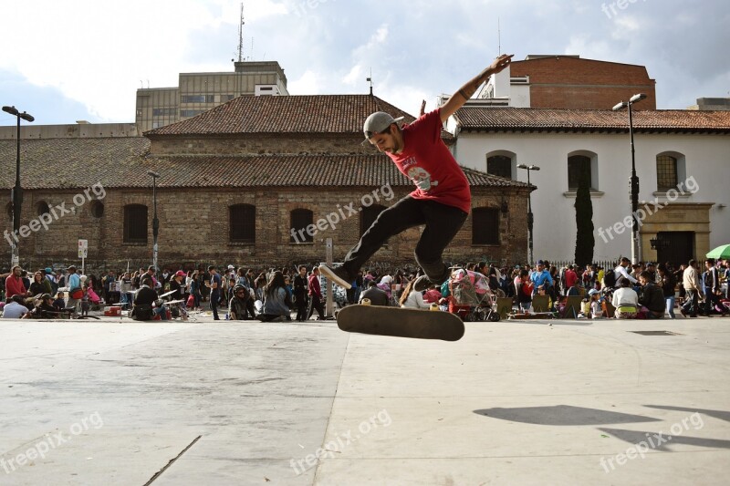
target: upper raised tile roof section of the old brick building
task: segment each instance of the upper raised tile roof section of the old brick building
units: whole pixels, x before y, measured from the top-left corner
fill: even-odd
[[[186,119],[145,132],[162,135],[230,135],[242,133],[362,133],[374,111],[394,118],[412,115],[370,95],[242,96]]]

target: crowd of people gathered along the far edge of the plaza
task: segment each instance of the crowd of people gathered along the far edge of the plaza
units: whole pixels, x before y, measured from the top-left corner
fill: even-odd
[[[631,265],[628,258],[622,258],[608,271],[597,264],[558,268],[543,260],[535,266],[497,267],[480,262],[452,267],[457,268],[484,275],[489,290],[494,295],[511,297],[517,312],[527,312],[535,295],[547,295],[549,310],[554,312],[561,310],[566,297],[581,295],[585,297],[581,316],[591,318],[613,314],[609,308],[615,309],[618,318],[674,318],[677,303],[680,313],[690,317],[728,313],[727,260],[708,259],[704,271],[694,260],[673,268],[670,264]],[[368,302],[416,309],[441,305],[449,309],[448,282],[417,291],[414,283],[418,277],[415,269],[360,271],[339,300],[336,292],[331,298],[339,305]],[[110,271],[101,277],[83,275],[75,265],[68,266],[66,272],[45,268],[33,274],[15,266],[10,273],[0,275],[6,318],[86,315],[90,305],[119,303],[138,320],[156,316],[165,319],[170,314],[184,319],[189,311],[209,308],[214,320],[221,319],[221,310],[225,318],[233,320],[301,322],[315,313],[318,319],[325,318],[322,291],[315,265],[255,271],[229,264],[221,270],[210,265],[206,270],[162,272],[150,266],[133,273]],[[165,305],[171,301],[172,305]]]

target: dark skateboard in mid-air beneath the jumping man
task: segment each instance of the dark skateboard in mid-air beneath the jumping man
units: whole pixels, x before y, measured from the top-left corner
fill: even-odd
[[[417,339],[458,341],[464,336],[458,315],[382,305],[348,305],[339,311],[337,326],[349,333]]]

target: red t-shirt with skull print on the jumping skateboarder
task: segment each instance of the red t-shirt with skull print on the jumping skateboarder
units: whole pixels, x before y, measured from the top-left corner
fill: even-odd
[[[463,212],[472,207],[472,193],[464,171],[441,140],[440,109],[402,127],[403,151],[388,156],[416,185],[413,199],[431,199]]]

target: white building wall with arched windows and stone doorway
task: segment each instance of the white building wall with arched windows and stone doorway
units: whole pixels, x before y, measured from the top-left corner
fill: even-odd
[[[697,191],[677,202],[714,203],[710,210],[710,248],[730,243],[730,137],[724,135],[635,134],[636,168],[641,202],[656,198],[656,156],[665,151],[685,156],[685,174],[692,178],[687,185]],[[629,177],[631,146],[628,134],[569,133],[464,133],[456,141],[455,157],[465,167],[486,171],[486,154],[508,151],[515,154],[513,174],[527,181],[527,171],[516,170],[518,163],[534,164],[540,171],[530,172],[535,214],[535,257],[548,260],[572,260],[575,251],[576,223],[574,196],[568,191],[568,154],[588,150],[597,154],[598,191],[593,202],[596,245],[594,260],[613,259],[631,254],[631,229],[613,239],[600,237],[599,228],[608,228],[631,213]],[[503,152],[504,153],[504,152]],[[594,181],[596,174],[594,174]],[[659,202],[666,202],[659,197]],[[726,207],[720,207],[725,205]],[[605,234],[605,233],[604,233]],[[698,255],[702,256],[702,255]]]

